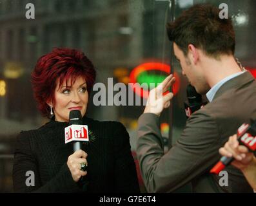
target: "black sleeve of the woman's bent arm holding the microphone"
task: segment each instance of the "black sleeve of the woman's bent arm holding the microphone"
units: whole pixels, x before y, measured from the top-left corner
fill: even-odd
[[[13,181],[15,192],[72,192],[81,191],[74,182],[67,164],[45,185],[41,178],[35,154],[30,142],[30,133],[21,132],[17,136],[14,152]],[[33,138],[33,137],[32,137]]]

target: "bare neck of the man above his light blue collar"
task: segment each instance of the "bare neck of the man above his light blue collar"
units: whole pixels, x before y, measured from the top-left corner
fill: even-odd
[[[219,61],[209,57],[204,58],[202,68],[210,88],[222,79],[242,71],[231,55],[222,55]]]

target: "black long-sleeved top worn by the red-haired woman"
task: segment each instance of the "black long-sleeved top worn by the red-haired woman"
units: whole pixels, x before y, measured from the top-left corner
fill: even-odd
[[[50,120],[39,129],[21,131],[17,136],[14,191],[139,192],[129,135],[123,124],[87,117],[83,118],[83,124],[94,134],[94,140],[82,144],[83,151],[88,154],[88,173],[83,177],[86,186],[74,182],[66,164],[68,156],[74,153],[72,142],[64,143],[64,127],[68,122]],[[35,182],[30,186],[33,174]]]

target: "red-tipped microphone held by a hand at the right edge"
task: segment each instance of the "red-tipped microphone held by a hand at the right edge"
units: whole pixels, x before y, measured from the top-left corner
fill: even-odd
[[[246,146],[249,151],[254,152],[256,150],[256,120],[251,120],[251,125],[242,124],[239,127],[237,130],[237,140],[239,144]],[[219,162],[211,169],[210,173],[219,174],[233,160],[233,157],[222,156]]]

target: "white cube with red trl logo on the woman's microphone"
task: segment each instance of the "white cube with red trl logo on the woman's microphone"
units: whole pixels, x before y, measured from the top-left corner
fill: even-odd
[[[72,141],[89,141],[88,126],[73,124],[65,128],[65,144]]]

